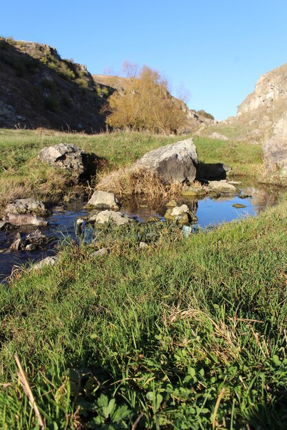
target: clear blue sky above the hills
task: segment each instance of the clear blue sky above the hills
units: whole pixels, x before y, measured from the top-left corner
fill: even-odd
[[[13,0],[1,2],[0,34],[52,45],[91,73],[147,65],[223,120],[287,63],[286,23],[287,0]]]

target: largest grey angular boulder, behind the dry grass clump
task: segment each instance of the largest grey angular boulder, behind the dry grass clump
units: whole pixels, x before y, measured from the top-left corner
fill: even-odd
[[[192,182],[196,176],[197,165],[198,152],[193,139],[189,138],[147,152],[131,166],[131,170],[153,170],[168,182]]]

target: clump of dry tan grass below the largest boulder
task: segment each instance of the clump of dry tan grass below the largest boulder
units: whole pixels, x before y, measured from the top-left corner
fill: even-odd
[[[156,172],[145,169],[119,169],[100,178],[97,189],[114,192],[118,197],[143,195],[147,199],[179,196],[182,183],[165,183]]]

